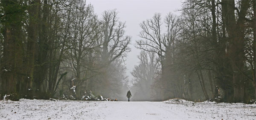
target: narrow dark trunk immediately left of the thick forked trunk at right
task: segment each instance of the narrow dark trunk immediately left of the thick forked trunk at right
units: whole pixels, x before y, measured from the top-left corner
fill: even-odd
[[[218,31],[221,31],[222,33],[218,33],[218,41],[216,48],[215,48],[215,62],[216,62],[216,72],[215,72],[215,97],[218,96],[218,92],[216,92],[217,89],[222,88],[225,91],[224,100],[226,101],[232,101],[232,94],[227,94],[233,92],[233,81],[232,78],[227,78],[225,76],[231,76],[232,73],[230,73],[230,60],[228,59],[227,55],[227,37],[226,37],[226,20],[224,14],[227,11],[227,7],[225,7],[226,4],[221,4],[222,9],[222,25],[221,28],[217,27]],[[219,17],[217,17],[219,19]],[[221,21],[217,20],[217,21]],[[220,29],[220,30],[219,30]],[[228,87],[231,86],[231,87]]]

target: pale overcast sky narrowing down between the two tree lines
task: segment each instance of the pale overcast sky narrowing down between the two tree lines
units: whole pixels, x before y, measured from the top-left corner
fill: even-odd
[[[126,60],[127,75],[131,80],[130,72],[134,65],[138,64],[137,55],[139,49],[134,47],[135,41],[140,40],[140,23],[143,20],[153,17],[155,13],[162,14],[164,17],[167,13],[180,14],[178,9],[181,9],[181,0],[86,0],[86,3],[91,3],[94,6],[94,11],[99,17],[105,10],[116,9],[118,11],[119,20],[126,22],[126,35],[132,37],[131,52],[128,53]]]

